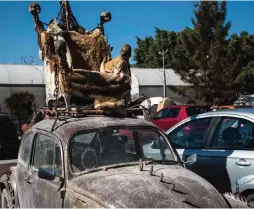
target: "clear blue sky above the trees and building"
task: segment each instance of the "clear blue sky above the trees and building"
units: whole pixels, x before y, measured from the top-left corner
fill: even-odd
[[[37,35],[29,1],[0,1],[0,63],[20,63],[21,57],[39,59]],[[59,1],[38,1],[40,19],[48,23],[59,12]],[[136,47],[136,37],[154,36],[154,28],[181,31],[191,27],[193,1],[71,1],[72,11],[84,28],[92,30],[99,23],[100,13],[109,11],[112,20],[105,24],[105,34],[112,56],[119,54],[123,44]],[[227,20],[232,21],[230,34],[246,30],[254,33],[254,2],[229,1]],[[133,55],[133,54],[132,54]],[[132,56],[133,58],[133,56]],[[133,63],[133,60],[131,61]]]

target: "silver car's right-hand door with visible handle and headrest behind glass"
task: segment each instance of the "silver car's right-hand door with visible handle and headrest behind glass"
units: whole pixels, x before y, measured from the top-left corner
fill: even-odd
[[[241,192],[254,179],[254,123],[244,116],[220,116],[201,153],[200,167],[221,193]],[[251,186],[254,188],[254,185]]]

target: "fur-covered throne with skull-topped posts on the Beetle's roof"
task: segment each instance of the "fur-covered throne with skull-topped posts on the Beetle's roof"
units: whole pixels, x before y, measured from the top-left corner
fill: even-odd
[[[111,21],[110,12],[103,12],[98,26],[88,31],[78,24],[68,1],[60,1],[60,8],[58,17],[45,24],[39,19],[40,5],[29,6],[44,61],[47,106],[63,99],[70,107],[75,103],[73,98],[83,106],[93,104],[94,109],[127,105],[131,98],[131,47],[124,44],[120,55],[111,58],[112,47],[103,27]]]

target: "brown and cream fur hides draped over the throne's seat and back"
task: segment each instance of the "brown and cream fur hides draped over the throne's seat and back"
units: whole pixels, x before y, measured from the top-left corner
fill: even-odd
[[[63,31],[56,20],[52,20],[39,37],[45,67],[47,103],[56,99],[57,73],[58,97],[64,98],[66,106],[70,105],[72,96],[84,98],[84,101],[92,99],[96,109],[114,109],[123,104],[119,100],[131,91],[130,69],[127,69],[129,61],[123,56],[112,60],[110,47],[102,34],[96,30],[87,34]],[[55,45],[59,40],[66,44],[61,54],[57,53]]]

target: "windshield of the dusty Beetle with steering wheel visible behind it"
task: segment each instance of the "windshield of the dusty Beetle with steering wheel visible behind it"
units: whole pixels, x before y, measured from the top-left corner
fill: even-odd
[[[118,164],[138,164],[140,159],[177,163],[167,139],[155,129],[107,128],[81,132],[70,140],[70,167],[76,174]]]

